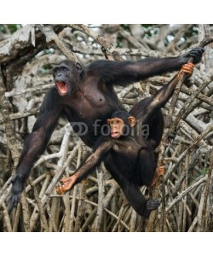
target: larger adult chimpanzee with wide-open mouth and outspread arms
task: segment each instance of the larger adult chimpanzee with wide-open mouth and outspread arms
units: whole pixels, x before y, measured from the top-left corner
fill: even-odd
[[[195,48],[178,57],[147,58],[142,61],[94,61],[88,67],[73,61],[62,61],[54,68],[55,87],[44,97],[32,133],[26,138],[19,165],[12,178],[9,210],[17,205],[32,165],[46,148],[60,117],[65,117],[72,124],[83,123],[88,129],[79,137],[89,147],[93,147],[101,136],[101,125],[105,120],[114,111],[124,109],[113,90],[114,84],[127,85],[178,70],[187,63],[190,56],[193,56],[195,63],[199,62],[203,52],[203,48]],[[163,91],[166,93],[166,88]],[[159,119],[162,119],[162,115],[156,113],[153,119],[147,120],[149,125],[153,124],[148,140],[156,141],[155,144],[160,140],[158,130],[161,131],[163,126]],[[99,127],[94,126],[97,124],[95,120],[100,120]],[[78,131],[78,128],[78,125],[73,126],[74,131]],[[110,165],[108,167],[111,168]]]

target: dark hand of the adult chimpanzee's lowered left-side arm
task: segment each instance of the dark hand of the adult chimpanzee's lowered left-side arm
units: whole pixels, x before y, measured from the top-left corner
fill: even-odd
[[[17,207],[20,200],[20,193],[24,188],[23,178],[20,174],[14,174],[10,183],[13,184],[12,190],[7,198],[6,204],[8,206],[8,211],[10,212],[14,207]],[[9,183],[9,185],[10,185]]]

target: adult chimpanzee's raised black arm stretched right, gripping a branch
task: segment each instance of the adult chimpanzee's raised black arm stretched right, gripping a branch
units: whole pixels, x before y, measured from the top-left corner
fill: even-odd
[[[190,56],[193,56],[194,63],[197,63],[201,60],[203,52],[203,48],[195,48],[178,57],[147,58],[141,61],[94,61],[88,68],[107,85],[126,85],[154,75],[179,70],[187,63]]]

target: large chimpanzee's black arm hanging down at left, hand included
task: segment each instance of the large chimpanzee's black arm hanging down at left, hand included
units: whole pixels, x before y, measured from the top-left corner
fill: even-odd
[[[29,176],[34,162],[46,148],[59,117],[60,106],[57,95],[55,90],[49,90],[44,97],[32,133],[26,138],[24,149],[20,155],[19,165],[11,181],[13,187],[7,200],[9,211],[17,206],[26,178]]]

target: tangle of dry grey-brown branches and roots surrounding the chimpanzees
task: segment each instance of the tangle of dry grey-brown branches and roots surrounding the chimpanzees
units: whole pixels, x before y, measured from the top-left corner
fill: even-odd
[[[16,32],[12,33],[12,29]],[[7,182],[32,131],[45,92],[53,86],[52,67],[65,58],[84,64],[96,59],[138,60],[180,55],[198,45],[202,25],[0,26],[0,231],[212,231],[213,230],[213,50],[183,84],[166,131],[176,137],[159,148],[164,180],[157,186],[163,207],[151,221],[138,216],[118,184],[101,165],[66,195],[55,194],[60,177],[76,170],[90,151],[60,119],[44,154],[33,167],[19,206],[9,214]],[[170,77],[118,87],[127,109],[152,95]],[[164,108],[165,117],[170,102]],[[165,151],[164,151],[165,146]],[[141,188],[152,196],[148,188]],[[156,193],[156,191],[155,191]],[[153,219],[155,222],[153,223]]]

